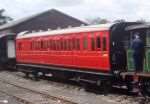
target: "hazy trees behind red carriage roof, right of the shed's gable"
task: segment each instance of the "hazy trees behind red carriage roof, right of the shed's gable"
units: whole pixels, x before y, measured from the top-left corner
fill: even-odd
[[[100,17],[94,18],[94,19],[86,19],[86,21],[90,24],[90,25],[95,25],[95,24],[106,24],[109,23],[110,21],[108,21],[107,19],[103,19]]]

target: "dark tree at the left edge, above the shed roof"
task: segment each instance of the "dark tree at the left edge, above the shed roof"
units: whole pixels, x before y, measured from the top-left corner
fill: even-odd
[[[0,9],[0,25],[6,24],[13,20],[11,17],[4,15],[4,12],[4,9]]]

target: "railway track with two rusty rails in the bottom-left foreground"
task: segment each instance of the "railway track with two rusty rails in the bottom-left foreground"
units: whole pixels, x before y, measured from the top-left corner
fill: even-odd
[[[12,96],[24,104],[76,104],[63,98],[34,91],[2,79],[0,79],[0,85],[0,92]]]

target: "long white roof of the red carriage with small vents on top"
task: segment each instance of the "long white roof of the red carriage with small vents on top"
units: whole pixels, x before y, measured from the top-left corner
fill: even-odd
[[[17,39],[49,36],[49,35],[61,35],[61,34],[69,34],[69,33],[109,30],[113,26],[113,24],[114,23],[91,25],[91,26],[81,26],[81,27],[70,27],[70,28],[65,28],[65,29],[48,30],[48,31],[33,32],[33,33],[28,33],[27,31],[24,31],[24,32],[21,32],[18,34]]]

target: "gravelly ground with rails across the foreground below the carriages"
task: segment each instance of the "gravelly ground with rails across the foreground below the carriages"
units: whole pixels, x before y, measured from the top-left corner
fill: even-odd
[[[128,95],[126,95],[125,91],[122,91],[121,89],[117,89],[117,88],[115,88],[113,90],[113,92],[110,92],[110,94],[108,94],[107,96],[103,96],[101,94],[94,94],[93,91],[91,93],[91,92],[83,91],[82,89],[79,90],[80,86],[78,86],[76,84],[74,85],[74,83],[66,84],[63,82],[60,83],[59,81],[58,81],[59,82],[58,83],[57,81],[53,80],[53,78],[47,79],[47,81],[45,79],[41,79],[40,81],[33,81],[33,80],[28,80],[28,79],[23,78],[22,73],[3,72],[3,73],[0,73],[0,75],[1,75],[0,76],[0,85],[2,85],[4,82],[4,84],[8,84],[11,86],[14,86],[14,85],[16,87],[21,86],[21,87],[23,87],[23,89],[25,87],[25,89],[28,89],[26,92],[28,92],[28,91],[32,92],[31,90],[34,91],[33,93],[35,93],[37,91],[40,91],[40,93],[43,92],[44,97],[45,97],[45,94],[46,95],[47,94],[54,95],[54,96],[59,97],[58,98],[58,97],[52,96],[52,98],[49,98],[52,101],[55,101],[54,103],[50,103],[50,104],[75,104],[74,102],[79,103],[79,104],[150,104],[149,99],[144,99],[143,97],[137,97],[137,96],[132,96],[132,95],[128,96]],[[2,80],[2,82],[1,82],[1,80]],[[13,82],[13,81],[15,81],[15,82]],[[24,85],[24,83],[26,83],[27,85]],[[41,85],[41,84],[42,84],[42,86],[40,86],[38,88],[31,87],[34,85],[37,86],[37,85]],[[5,86],[7,86],[7,85],[5,85]],[[54,91],[52,91],[52,92],[56,92],[55,88],[61,89],[61,90],[57,90],[57,92],[60,91],[59,95],[47,92],[47,91],[51,92],[50,89],[53,89],[53,87],[54,87]],[[14,90],[14,88],[12,88],[12,89]],[[0,87],[0,90],[1,90],[1,87]],[[66,92],[66,90],[67,90],[67,92]],[[61,91],[63,92],[63,94],[61,93]],[[70,91],[73,93],[70,93]],[[96,89],[95,89],[95,91],[97,93]],[[80,93],[82,93],[82,94],[80,94]],[[36,94],[39,95],[39,92]],[[67,94],[69,94],[70,98],[68,97]],[[28,93],[23,94],[23,95],[27,96]],[[32,95],[32,94],[30,94],[30,95]],[[35,95],[35,96],[37,96],[37,95]],[[83,95],[85,95],[86,97]],[[88,97],[88,96],[90,96],[90,97]],[[28,99],[21,97],[22,102],[29,103],[29,104],[35,104],[34,102],[36,102],[36,101],[34,101],[33,99],[31,101],[30,100],[28,101]],[[63,102],[63,100],[65,100],[65,99],[68,99],[69,102]],[[105,102],[105,103],[101,103],[101,102]],[[109,103],[106,103],[106,102],[109,102]],[[141,103],[141,102],[144,102],[144,103]],[[36,103],[36,104],[38,104],[38,103]],[[39,103],[39,104],[43,104],[43,103]],[[44,103],[44,104],[49,104],[49,103]]]

